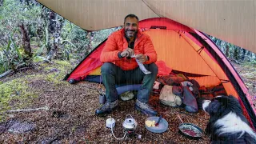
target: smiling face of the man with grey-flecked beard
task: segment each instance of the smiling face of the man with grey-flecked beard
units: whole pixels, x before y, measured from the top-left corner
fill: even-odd
[[[138,20],[136,18],[126,18],[126,22],[124,24],[125,31],[126,31],[126,37],[132,38],[137,33],[138,29]]]

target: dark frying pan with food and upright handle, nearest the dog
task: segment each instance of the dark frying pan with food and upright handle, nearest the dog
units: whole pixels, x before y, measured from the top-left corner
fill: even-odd
[[[202,138],[203,130],[200,127],[198,127],[192,123],[184,123],[182,121],[182,118],[180,118],[179,115],[177,115],[177,116],[178,116],[179,120],[182,122],[178,126],[178,132],[180,134],[182,134],[186,138],[190,138],[190,139]]]

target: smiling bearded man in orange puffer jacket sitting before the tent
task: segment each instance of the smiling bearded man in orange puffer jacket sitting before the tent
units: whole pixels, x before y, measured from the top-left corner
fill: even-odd
[[[131,58],[134,56],[134,58]],[[138,62],[144,64],[151,74],[144,74]],[[138,30],[138,17],[129,14],[124,20],[124,28],[111,34],[100,56],[102,82],[106,88],[106,103],[96,110],[96,114],[110,113],[118,106],[117,84],[140,84],[135,109],[144,114],[155,115],[157,112],[148,105],[150,91],[158,74],[157,54],[147,34]]]

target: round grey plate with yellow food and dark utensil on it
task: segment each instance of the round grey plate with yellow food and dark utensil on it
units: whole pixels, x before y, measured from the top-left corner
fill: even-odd
[[[146,130],[150,130],[152,133],[163,133],[168,129],[168,122],[165,118],[150,117],[145,121]]]

